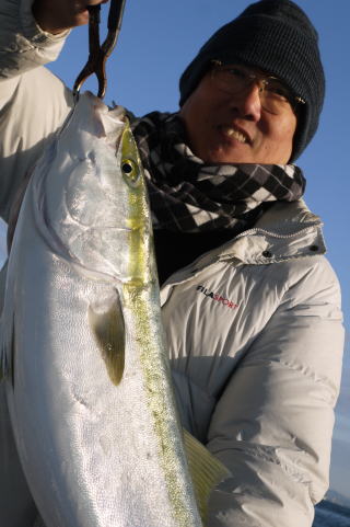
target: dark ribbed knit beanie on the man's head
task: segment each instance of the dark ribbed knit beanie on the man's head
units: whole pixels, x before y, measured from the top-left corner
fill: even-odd
[[[290,161],[295,160],[316,133],[325,94],[318,35],[306,14],[291,0],[250,4],[217,31],[186,68],[179,81],[180,106],[215,59],[260,68],[305,101],[298,113]]]

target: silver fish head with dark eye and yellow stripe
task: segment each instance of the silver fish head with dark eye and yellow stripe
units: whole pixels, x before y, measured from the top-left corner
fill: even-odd
[[[54,149],[51,159],[48,153],[42,161],[47,176],[45,192],[37,194],[45,202],[38,225],[45,224],[55,252],[90,274],[149,280],[150,209],[125,113],[84,94]]]

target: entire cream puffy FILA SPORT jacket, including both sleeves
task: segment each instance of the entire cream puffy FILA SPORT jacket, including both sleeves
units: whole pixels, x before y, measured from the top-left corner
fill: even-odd
[[[65,35],[43,33],[31,3],[0,0],[4,220],[72,105],[69,90],[40,66],[59,53]],[[277,203],[254,229],[162,289],[183,423],[233,474],[212,493],[210,527],[310,527],[325,494],[343,330],[339,285],[324,252],[319,218],[302,201]],[[7,419],[3,406],[0,456],[12,440]],[[27,527],[35,509],[9,451],[0,525]]]

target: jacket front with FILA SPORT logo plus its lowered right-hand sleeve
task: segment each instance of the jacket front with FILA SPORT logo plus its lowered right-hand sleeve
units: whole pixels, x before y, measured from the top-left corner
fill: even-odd
[[[343,335],[324,252],[303,202],[277,204],[162,290],[183,422],[233,473],[210,527],[310,527],[325,494]]]

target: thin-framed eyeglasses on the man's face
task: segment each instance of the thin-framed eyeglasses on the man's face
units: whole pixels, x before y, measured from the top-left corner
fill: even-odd
[[[211,79],[220,90],[232,95],[238,95],[256,83],[261,107],[271,114],[282,114],[289,107],[295,112],[299,104],[305,104],[302,98],[295,96],[276,77],[258,73],[245,66],[223,66],[219,60],[213,60]]]

